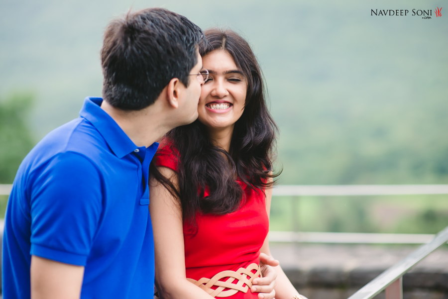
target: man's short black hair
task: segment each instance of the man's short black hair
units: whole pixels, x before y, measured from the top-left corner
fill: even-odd
[[[197,25],[163,8],[113,20],[101,49],[104,100],[122,110],[140,110],[154,103],[173,78],[188,87],[203,42]]]

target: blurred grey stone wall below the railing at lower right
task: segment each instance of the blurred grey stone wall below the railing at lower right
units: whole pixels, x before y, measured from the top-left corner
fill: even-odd
[[[347,299],[416,246],[271,244],[274,257],[309,299]],[[448,299],[448,246],[403,277],[404,299]],[[377,299],[384,299],[384,292]]]

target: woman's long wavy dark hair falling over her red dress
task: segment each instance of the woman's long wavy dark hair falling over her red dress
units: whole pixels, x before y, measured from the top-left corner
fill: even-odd
[[[165,137],[179,153],[178,188],[151,164],[153,178],[179,199],[184,220],[193,222],[197,211],[226,214],[237,209],[245,196],[235,179],[263,191],[272,187],[269,179],[278,176],[272,171],[277,126],[266,106],[255,55],[249,44],[231,30],[213,28],[205,36],[208,44],[200,49],[201,55],[217,49],[227,51],[247,81],[244,111],[234,125],[229,152],[214,146],[207,128],[196,120],[169,131]],[[204,197],[206,186],[210,195]]]

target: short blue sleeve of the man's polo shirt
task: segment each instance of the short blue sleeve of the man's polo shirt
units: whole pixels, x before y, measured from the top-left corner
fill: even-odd
[[[31,255],[85,266],[102,214],[102,176],[65,152],[36,170],[30,194]]]

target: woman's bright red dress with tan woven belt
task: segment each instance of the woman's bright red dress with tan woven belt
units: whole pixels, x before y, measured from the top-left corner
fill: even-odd
[[[169,146],[159,148],[154,157],[156,166],[177,171],[177,151]],[[185,267],[187,278],[196,281],[213,278],[221,271],[238,271],[252,263],[258,264],[261,246],[269,229],[266,199],[237,180],[246,201],[237,210],[225,215],[196,213],[197,227],[184,221]],[[205,196],[207,196],[207,188]],[[252,272],[255,272],[253,270]],[[225,281],[227,279],[221,279]],[[244,284],[245,286],[245,284]],[[216,289],[217,287],[212,287]],[[226,291],[228,289],[224,289]],[[238,291],[226,299],[257,299],[258,293]],[[216,298],[219,298],[218,296]]]

